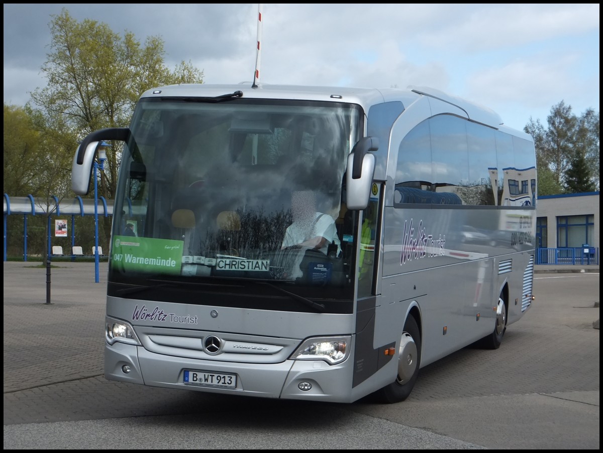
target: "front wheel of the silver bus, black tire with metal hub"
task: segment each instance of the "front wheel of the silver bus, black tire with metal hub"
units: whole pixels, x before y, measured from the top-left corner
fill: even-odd
[[[399,371],[396,381],[376,392],[379,401],[388,404],[405,401],[417,382],[418,369],[421,365],[421,333],[417,321],[412,316],[408,317],[404,326],[398,362],[398,369],[406,370],[407,376],[403,376],[405,373]]]

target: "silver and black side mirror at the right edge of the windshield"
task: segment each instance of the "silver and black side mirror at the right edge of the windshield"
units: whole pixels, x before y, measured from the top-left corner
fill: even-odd
[[[375,169],[375,157],[369,151],[379,149],[379,140],[364,137],[347,157],[346,204],[348,209],[363,210],[368,205]]]

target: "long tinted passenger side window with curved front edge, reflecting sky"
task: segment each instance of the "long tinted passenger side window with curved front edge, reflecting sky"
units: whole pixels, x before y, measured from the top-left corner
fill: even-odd
[[[525,207],[534,205],[535,181],[529,140],[443,114],[400,143],[394,205]]]

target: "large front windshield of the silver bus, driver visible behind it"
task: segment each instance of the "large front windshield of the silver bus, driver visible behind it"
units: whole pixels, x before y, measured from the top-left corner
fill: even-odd
[[[142,99],[121,157],[110,281],[251,279],[326,297],[353,287],[341,200],[361,119],[336,102]]]

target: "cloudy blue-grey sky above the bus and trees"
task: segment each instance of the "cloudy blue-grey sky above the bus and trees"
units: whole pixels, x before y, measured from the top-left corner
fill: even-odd
[[[258,4],[4,4],[4,103],[46,85],[49,22],[165,42],[205,83],[252,81]],[[434,87],[522,129],[564,101],[599,111],[599,4],[262,4],[260,83]]]

